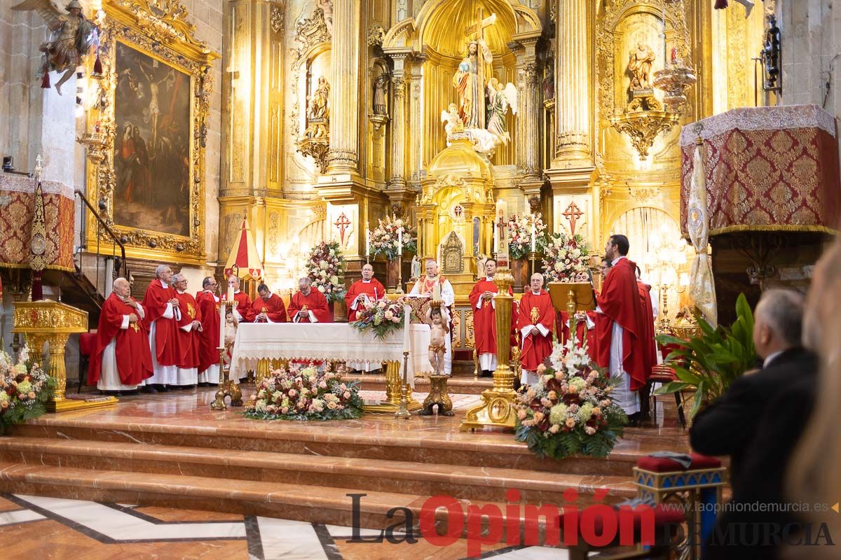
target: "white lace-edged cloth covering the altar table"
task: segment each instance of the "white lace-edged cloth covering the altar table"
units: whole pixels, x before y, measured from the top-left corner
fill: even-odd
[[[429,325],[409,326],[410,385],[415,371],[431,373]],[[398,362],[403,368],[403,329],[378,340],[370,330],[359,332],[347,323],[241,323],[236,331],[230,378],[257,369],[261,359],[312,359],[346,362]]]

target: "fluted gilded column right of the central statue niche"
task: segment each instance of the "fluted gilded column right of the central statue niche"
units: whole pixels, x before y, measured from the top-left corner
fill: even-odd
[[[555,37],[555,143],[553,167],[561,161],[590,161],[590,4],[591,0],[558,2]]]

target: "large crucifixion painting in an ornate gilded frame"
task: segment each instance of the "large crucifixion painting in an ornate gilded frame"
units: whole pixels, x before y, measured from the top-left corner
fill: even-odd
[[[87,128],[102,134],[105,155],[88,158],[87,196],[130,257],[204,264],[210,65],[220,55],[195,39],[180,3],[107,0],[103,12],[103,76]],[[177,175],[168,179],[172,192],[155,191],[152,180],[167,175]],[[129,203],[140,211],[124,212]],[[87,238],[96,235],[89,219]]]

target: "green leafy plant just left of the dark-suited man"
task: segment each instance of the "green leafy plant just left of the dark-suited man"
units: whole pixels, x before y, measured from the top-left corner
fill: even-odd
[[[757,354],[754,348],[754,313],[744,294],[736,301],[736,321],[730,327],[713,328],[696,314],[701,335],[690,340],[659,335],[661,344],[678,346],[664,365],[674,369],[678,378],[655,391],[669,395],[683,390],[696,390],[695,403],[689,418],[711,400],[723,395],[727,388],[748,369],[753,369]]]

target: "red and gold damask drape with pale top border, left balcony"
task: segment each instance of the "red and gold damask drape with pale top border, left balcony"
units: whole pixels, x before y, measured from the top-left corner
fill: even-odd
[[[0,266],[28,269],[35,217],[34,179],[0,173]],[[36,238],[35,253],[43,268],[73,268],[73,190],[56,181],[41,181],[43,238]]]

